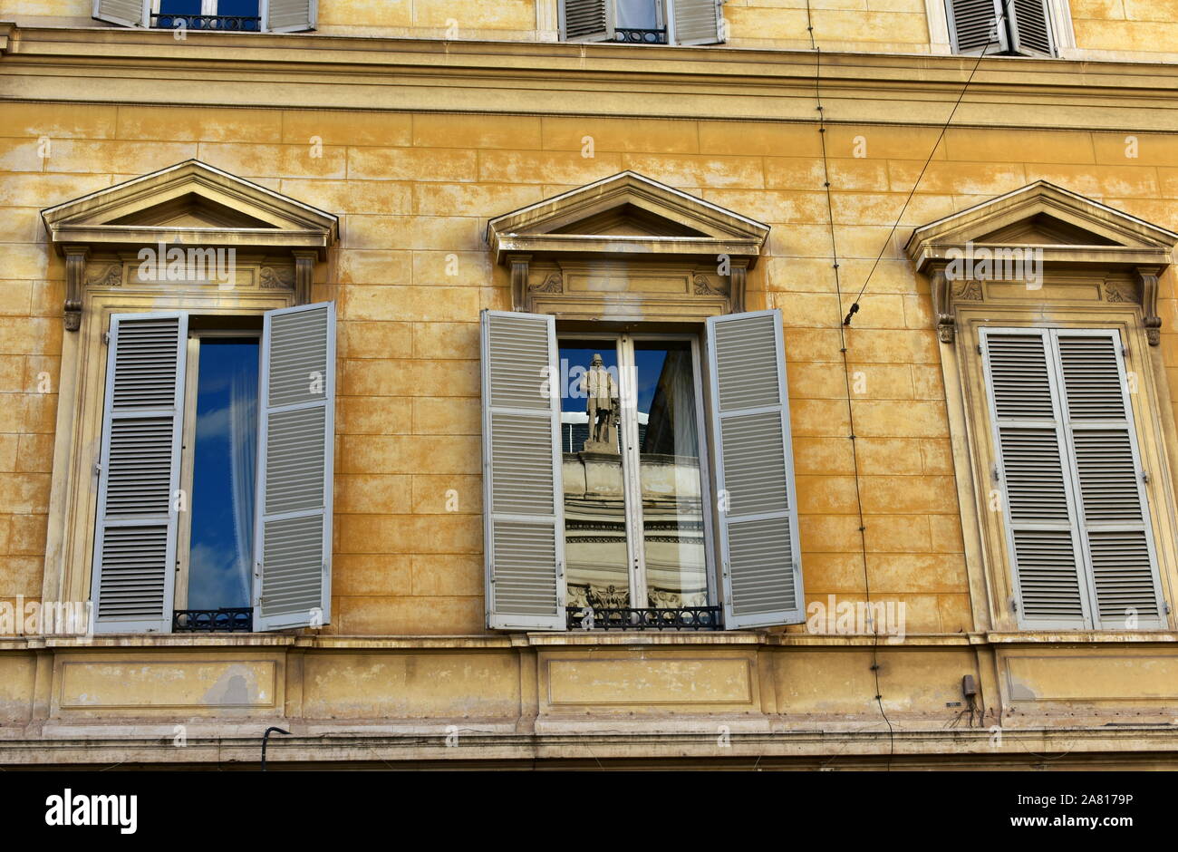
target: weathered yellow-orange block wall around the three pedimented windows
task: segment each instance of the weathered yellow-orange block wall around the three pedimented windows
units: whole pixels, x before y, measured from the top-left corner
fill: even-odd
[[[863,594],[838,325],[939,128],[829,128],[840,305],[813,125],[0,110],[9,170],[0,174],[0,595],[37,597],[41,588],[64,266],[46,251],[38,211],[190,157],[342,217],[315,293],[338,299],[340,311],[327,633],[484,632],[477,319],[481,308],[509,306],[505,272],[492,269],[483,243],[485,222],[626,169],[773,225],[749,298],[750,308],[786,317],[806,588],[822,601]],[[593,158],[581,153],[585,136]],[[45,159],[41,137],[49,138]],[[847,336],[866,570],[876,599],[908,605],[909,633],[973,625],[929,296],[899,246],[912,225],[1038,178],[1178,227],[1178,146],[1143,134],[1139,156],[1125,152],[1114,133],[949,131],[872,279]],[[1178,303],[1169,277],[1163,295],[1163,351],[1174,376]],[[39,392],[46,378],[48,392]],[[450,489],[457,511],[446,510]]]

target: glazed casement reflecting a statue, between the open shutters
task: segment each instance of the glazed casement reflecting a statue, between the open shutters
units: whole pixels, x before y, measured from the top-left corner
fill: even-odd
[[[558,342],[568,606],[712,606],[697,341]]]

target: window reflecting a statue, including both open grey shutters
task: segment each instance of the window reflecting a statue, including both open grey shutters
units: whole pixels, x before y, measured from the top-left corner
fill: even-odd
[[[712,317],[704,342],[483,312],[490,627],[802,620],[781,322]]]

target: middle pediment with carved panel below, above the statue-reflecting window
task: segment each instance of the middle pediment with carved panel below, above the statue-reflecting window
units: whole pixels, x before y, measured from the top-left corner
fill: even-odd
[[[743,310],[746,273],[768,233],[768,225],[634,172],[487,227],[496,263],[511,269],[515,310],[629,319]]]

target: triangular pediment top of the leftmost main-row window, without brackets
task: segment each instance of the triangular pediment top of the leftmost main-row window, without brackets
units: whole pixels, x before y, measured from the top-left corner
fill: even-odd
[[[337,218],[199,160],[92,192],[41,211],[51,240],[125,246],[317,249],[336,240]]]

